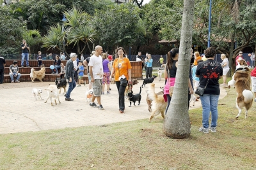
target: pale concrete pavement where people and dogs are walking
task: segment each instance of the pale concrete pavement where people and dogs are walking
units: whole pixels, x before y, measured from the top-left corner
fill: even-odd
[[[155,80],[156,92],[159,87],[164,86],[164,80]],[[47,99],[47,92],[44,89],[54,82],[21,82],[21,83],[4,83],[0,85],[0,134],[28,132],[28,131],[45,131],[49,129],[63,129],[66,127],[81,127],[89,125],[104,125],[115,122],[127,122],[149,118],[148,106],[146,102],[147,86],[141,90],[140,106],[130,108],[129,101],[125,100],[125,112],[120,114],[118,111],[118,92],[116,85],[111,85],[111,94],[105,94],[101,97],[102,106],[105,110],[91,108],[86,102],[86,85],[76,87],[71,96],[74,101],[67,102],[63,94],[60,94],[61,104],[51,106],[51,101]],[[134,85],[134,93],[140,92],[142,80],[138,85]],[[42,89],[42,98],[44,100],[35,100],[32,89]],[[63,89],[62,89],[63,92]],[[106,91],[105,91],[106,93]],[[225,97],[227,92],[221,88],[220,99]],[[138,104],[138,102],[136,103]],[[201,106],[200,101],[195,103],[196,106],[189,110]],[[192,104],[191,104],[192,105]],[[160,116],[160,115],[159,115]],[[154,119],[152,120],[154,121]]]

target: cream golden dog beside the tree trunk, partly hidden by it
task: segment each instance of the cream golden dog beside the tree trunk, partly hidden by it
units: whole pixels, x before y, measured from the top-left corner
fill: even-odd
[[[156,95],[155,93],[155,84],[150,83],[148,84],[148,97],[152,100],[151,104],[151,116],[148,122],[151,122],[152,118],[156,117],[161,113],[162,117],[164,118],[164,111],[167,106],[167,102],[164,101],[163,95]]]

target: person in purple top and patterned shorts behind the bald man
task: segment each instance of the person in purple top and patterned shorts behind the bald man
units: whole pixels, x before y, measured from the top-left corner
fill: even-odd
[[[110,84],[110,64],[109,61],[113,60],[112,55],[108,55],[106,53],[102,53],[102,65],[103,65],[103,79],[102,79],[102,94],[104,94],[105,84],[107,84],[107,94],[110,94],[109,92],[109,84]]]

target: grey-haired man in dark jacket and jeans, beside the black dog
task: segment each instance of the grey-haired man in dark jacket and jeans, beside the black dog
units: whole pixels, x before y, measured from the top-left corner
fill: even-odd
[[[67,94],[64,95],[66,97],[65,101],[74,101],[74,99],[70,98],[70,93],[76,87],[76,81],[74,80],[75,70],[74,70],[74,64],[73,64],[76,58],[77,58],[76,53],[70,53],[70,59],[66,63],[66,80],[68,81],[68,92]]]

